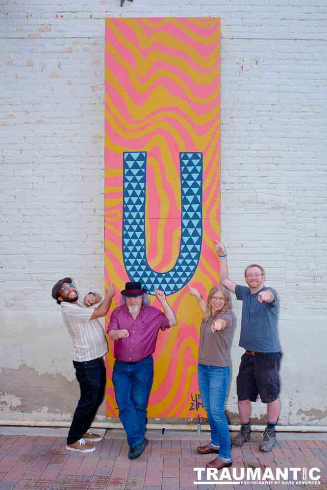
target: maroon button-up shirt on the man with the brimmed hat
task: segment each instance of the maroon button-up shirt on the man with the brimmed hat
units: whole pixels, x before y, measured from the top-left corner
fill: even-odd
[[[169,328],[169,321],[162,311],[154,306],[141,306],[134,320],[126,305],[111,313],[109,330],[129,332],[129,337],[115,340],[114,357],[118,361],[135,363],[154,352],[159,330]]]

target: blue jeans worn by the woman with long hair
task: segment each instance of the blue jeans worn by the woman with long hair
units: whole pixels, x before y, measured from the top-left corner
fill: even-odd
[[[212,447],[219,446],[217,458],[231,461],[229,429],[224,412],[230,369],[220,366],[198,365],[198,381],[203,408],[211,429]]]

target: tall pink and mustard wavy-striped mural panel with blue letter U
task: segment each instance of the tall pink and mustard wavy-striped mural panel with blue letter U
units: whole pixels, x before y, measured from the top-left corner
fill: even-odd
[[[219,282],[220,20],[106,19],[105,279],[165,292],[148,417],[205,416],[197,383],[202,296]],[[109,314],[110,315],[110,314]],[[108,319],[106,319],[108,321]],[[118,410],[106,358],[107,417]]]

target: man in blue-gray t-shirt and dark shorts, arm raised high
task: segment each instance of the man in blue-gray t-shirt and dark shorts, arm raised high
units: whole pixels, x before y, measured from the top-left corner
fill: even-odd
[[[276,444],[275,425],[280,411],[278,296],[272,288],[264,286],[265,271],[257,264],[245,270],[248,287],[231,281],[228,278],[226,248],[215,242],[220,257],[220,283],[243,301],[239,346],[245,349],[245,353],[236,379],[242,426],[233,444],[242,446],[250,440],[251,401],[256,401],[259,394],[261,401],[267,403],[267,427],[259,448],[271,451]]]

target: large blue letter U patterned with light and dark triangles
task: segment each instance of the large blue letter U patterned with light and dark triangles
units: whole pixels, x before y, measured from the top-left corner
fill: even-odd
[[[180,291],[192,279],[202,242],[202,154],[181,152],[181,240],[174,267],[157,272],[148,264],[145,236],[146,162],[144,151],[124,153],[123,259],[128,277],[166,295]]]

